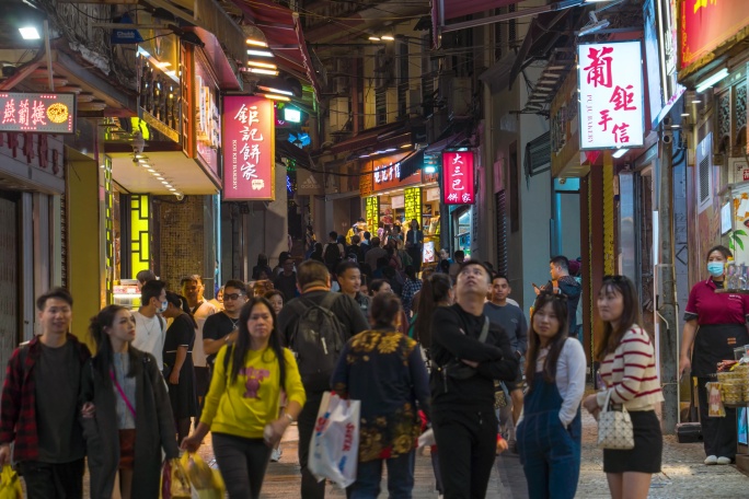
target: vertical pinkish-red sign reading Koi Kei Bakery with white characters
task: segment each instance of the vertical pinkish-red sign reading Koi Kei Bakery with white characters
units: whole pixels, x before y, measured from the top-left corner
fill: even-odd
[[[223,97],[223,199],[276,198],[275,118],[265,97]]]

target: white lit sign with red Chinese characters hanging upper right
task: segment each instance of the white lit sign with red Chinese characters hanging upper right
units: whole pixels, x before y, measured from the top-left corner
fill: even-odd
[[[637,148],[645,140],[639,40],[577,46],[580,149]]]

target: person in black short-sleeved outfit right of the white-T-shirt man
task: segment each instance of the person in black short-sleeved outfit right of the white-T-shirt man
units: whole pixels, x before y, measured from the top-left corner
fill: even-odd
[[[177,431],[177,441],[189,432],[189,418],[198,415],[197,393],[195,391],[195,368],[193,365],[193,345],[197,323],[185,312],[183,297],[166,292],[166,311],[163,316],[172,318],[164,338],[164,379],[169,386],[169,398]],[[188,309],[189,310],[189,309]]]

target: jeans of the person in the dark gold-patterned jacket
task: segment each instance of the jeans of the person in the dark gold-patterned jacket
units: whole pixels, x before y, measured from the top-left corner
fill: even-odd
[[[374,460],[358,463],[356,481],[349,487],[348,499],[377,499],[382,480],[382,463],[388,465],[388,497],[390,499],[411,499],[414,489],[414,462],[416,454],[411,451],[389,460]]]

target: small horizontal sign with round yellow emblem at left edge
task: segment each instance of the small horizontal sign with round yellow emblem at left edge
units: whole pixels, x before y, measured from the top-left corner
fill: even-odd
[[[0,92],[0,131],[76,132],[76,94]]]

